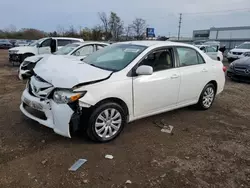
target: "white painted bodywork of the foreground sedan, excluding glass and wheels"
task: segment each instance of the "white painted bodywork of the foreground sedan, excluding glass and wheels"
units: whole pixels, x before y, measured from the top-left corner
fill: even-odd
[[[49,60],[47,59],[46,63],[39,62],[34,71],[39,77],[52,84],[52,89],[59,87],[73,88],[74,92],[87,91],[84,97],[79,99],[79,105],[82,108],[89,108],[109,98],[122,100],[128,108],[128,122],[195,104],[199,100],[203,88],[210,81],[216,81],[218,85],[217,94],[223,91],[225,84],[223,64],[212,60],[198,48],[188,44],[162,41],[125,42],[125,44],[130,43],[146,45],[148,48],[127,67],[118,72],[112,73],[81,61],[74,61],[59,56],[48,57]],[[193,48],[201,54],[206,63],[162,70],[154,72],[152,75],[128,76],[131,69],[147,53],[153,49],[168,46]],[[31,86],[33,84],[38,88],[41,87],[40,81],[34,81],[35,79],[34,76],[31,78]],[[85,85],[85,83],[98,80],[101,81]],[[78,87],[74,87],[75,85],[78,85]],[[23,98],[45,105],[44,101],[37,100],[39,98],[31,96],[27,90],[26,88]],[[48,114],[46,122],[29,114],[22,108],[23,103],[20,108],[29,118],[53,128],[60,135],[70,137],[69,122],[73,111],[68,105],[56,104],[53,99],[47,99],[45,103],[50,106],[49,111],[47,107],[44,110],[45,114]]]

